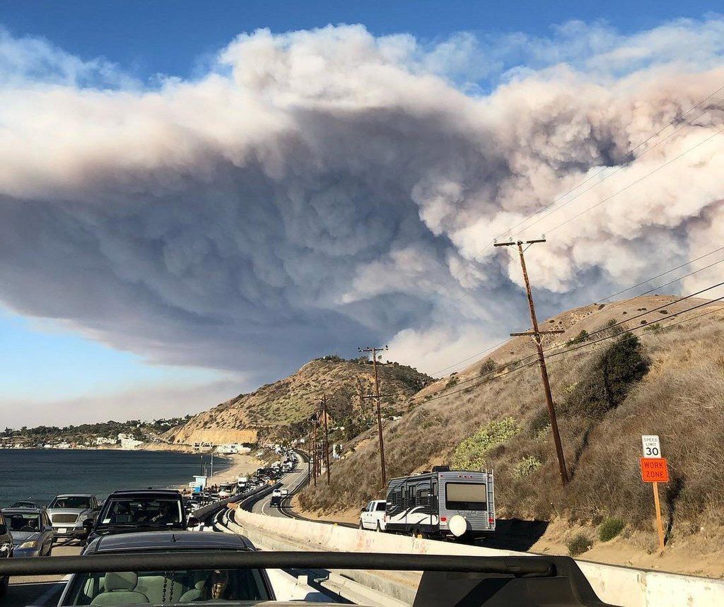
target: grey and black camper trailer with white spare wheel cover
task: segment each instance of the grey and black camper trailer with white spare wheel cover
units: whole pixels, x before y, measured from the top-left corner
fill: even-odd
[[[426,537],[475,538],[495,530],[493,472],[450,470],[393,478],[384,528]]]

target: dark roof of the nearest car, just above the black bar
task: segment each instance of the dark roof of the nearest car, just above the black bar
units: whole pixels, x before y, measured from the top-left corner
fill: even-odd
[[[102,535],[83,554],[155,550],[253,550],[243,535],[198,531],[140,531]]]

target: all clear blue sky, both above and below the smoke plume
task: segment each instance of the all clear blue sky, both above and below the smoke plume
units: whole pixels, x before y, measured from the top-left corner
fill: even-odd
[[[284,33],[329,23],[361,23],[373,35],[410,33],[422,43],[434,43],[459,32],[481,37],[522,32],[545,38],[555,25],[571,20],[605,22],[628,34],[679,17],[702,18],[715,8],[711,1],[699,0],[5,0],[0,4],[0,26],[15,39],[44,38],[84,61],[103,57],[125,74],[149,82],[159,74],[193,80],[237,35],[263,27]],[[61,313],[56,316],[62,318]],[[125,347],[122,339],[92,339],[89,331],[75,326],[0,307],[1,389],[4,402],[18,410],[25,404],[32,409],[27,419],[18,417],[21,423],[62,423],[62,404],[75,416],[70,421],[183,414],[253,388],[244,385],[243,367],[219,369],[216,361],[151,364],[152,356],[131,352],[132,346]],[[339,353],[353,355],[355,347],[350,343],[349,352]],[[165,396],[159,396],[161,392]],[[102,396],[98,402],[116,398],[119,410],[106,415],[97,407],[73,404],[86,403],[94,394]],[[148,394],[146,402],[143,394]],[[131,401],[135,408],[124,409],[122,403]]]

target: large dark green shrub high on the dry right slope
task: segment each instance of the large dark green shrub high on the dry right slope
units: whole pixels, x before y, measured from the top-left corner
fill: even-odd
[[[603,417],[623,402],[633,384],[649,370],[641,342],[625,333],[594,360],[576,388],[565,399],[561,412],[584,417]]]

